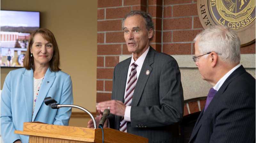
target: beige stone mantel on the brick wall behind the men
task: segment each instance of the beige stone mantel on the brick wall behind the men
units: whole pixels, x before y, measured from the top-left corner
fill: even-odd
[[[131,55],[122,55],[119,57],[119,61],[123,61],[129,57]],[[192,55],[174,55],[173,57],[177,60],[180,67],[184,100],[207,96],[212,85],[202,80],[192,60]],[[242,54],[241,64],[255,78],[255,54]]]

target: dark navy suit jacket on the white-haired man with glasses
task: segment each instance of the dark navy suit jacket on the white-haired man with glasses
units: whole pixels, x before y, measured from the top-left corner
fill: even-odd
[[[189,143],[255,143],[255,79],[243,66],[199,115]]]

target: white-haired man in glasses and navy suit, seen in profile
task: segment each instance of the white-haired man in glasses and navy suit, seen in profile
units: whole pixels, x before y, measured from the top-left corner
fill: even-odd
[[[225,26],[194,39],[202,78],[212,84],[189,143],[255,143],[255,79],[240,64],[240,40]]]

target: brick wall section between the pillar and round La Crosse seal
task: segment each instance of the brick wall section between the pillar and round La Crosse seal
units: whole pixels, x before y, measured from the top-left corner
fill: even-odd
[[[163,53],[193,54],[193,39],[203,30],[194,0],[164,0]]]

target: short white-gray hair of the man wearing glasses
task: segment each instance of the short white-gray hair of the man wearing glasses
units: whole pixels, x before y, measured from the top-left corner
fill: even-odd
[[[227,26],[211,26],[196,35],[201,54],[216,52],[222,61],[235,64],[240,62],[240,39]]]

